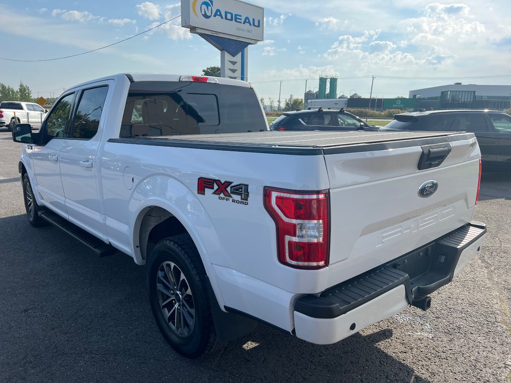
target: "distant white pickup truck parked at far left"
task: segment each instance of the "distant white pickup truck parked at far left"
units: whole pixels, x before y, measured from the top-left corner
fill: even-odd
[[[30,124],[32,128],[40,128],[48,111],[39,104],[22,101],[2,101],[0,103],[0,128],[7,127],[10,131],[16,124]]]

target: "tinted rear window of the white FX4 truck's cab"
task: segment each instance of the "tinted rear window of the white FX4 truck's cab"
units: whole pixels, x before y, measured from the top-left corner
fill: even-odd
[[[130,85],[120,137],[267,130],[253,89],[194,82],[138,81]]]

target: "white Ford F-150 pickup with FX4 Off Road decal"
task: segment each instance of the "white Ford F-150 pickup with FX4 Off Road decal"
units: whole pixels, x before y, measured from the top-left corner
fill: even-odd
[[[236,80],[86,82],[13,139],[29,222],[146,265],[155,321],[187,357],[258,321],[331,344],[425,310],[486,233],[472,133],[269,131]]]

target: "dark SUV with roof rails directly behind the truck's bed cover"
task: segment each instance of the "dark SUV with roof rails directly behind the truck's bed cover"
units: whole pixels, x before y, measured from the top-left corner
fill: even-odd
[[[344,109],[307,109],[285,112],[270,124],[272,130],[377,130]]]

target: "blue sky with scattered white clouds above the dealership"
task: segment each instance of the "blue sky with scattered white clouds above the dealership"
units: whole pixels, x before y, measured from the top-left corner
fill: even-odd
[[[303,98],[318,77],[338,93],[408,96],[411,89],[462,82],[511,85],[511,3],[407,0],[253,0],[265,9],[265,40],[249,47],[248,79],[260,97]],[[97,49],[180,14],[180,3],[31,0],[0,3],[0,57],[41,60]],[[104,50],[45,62],[0,60],[0,82],[23,81],[34,96],[123,72],[201,74],[220,53],[180,27],[165,26]],[[481,78],[495,76],[496,78]],[[500,76],[500,77],[499,77]],[[507,77],[506,77],[507,76]],[[283,102],[283,101],[282,101]]]

